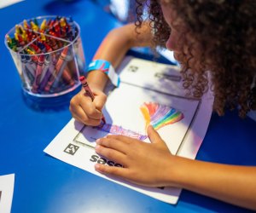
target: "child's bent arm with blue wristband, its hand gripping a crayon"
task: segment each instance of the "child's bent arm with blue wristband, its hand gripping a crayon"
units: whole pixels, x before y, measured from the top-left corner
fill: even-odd
[[[152,36],[148,24],[144,24],[138,30],[139,34],[135,31],[134,24],[113,29],[97,49],[94,60],[107,60],[113,67],[117,67],[126,52],[132,47],[149,46]],[[73,118],[84,124],[96,126],[101,122],[102,108],[107,100],[102,91],[108,82],[108,76],[99,70],[91,71],[88,74],[87,82],[95,95],[94,101],[92,102],[89,97],[86,97],[82,89],[78,95],[73,97],[69,108]]]

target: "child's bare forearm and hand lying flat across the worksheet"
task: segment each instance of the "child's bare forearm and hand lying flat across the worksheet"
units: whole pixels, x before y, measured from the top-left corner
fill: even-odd
[[[96,153],[124,168],[96,164],[96,170],[149,187],[181,187],[256,210],[256,166],[214,164],[172,155],[148,127],[151,143],[123,135],[98,139]]]

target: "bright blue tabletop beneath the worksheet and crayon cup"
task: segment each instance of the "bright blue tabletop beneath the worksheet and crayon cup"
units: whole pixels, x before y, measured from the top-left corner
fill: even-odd
[[[166,204],[46,155],[43,150],[70,120],[68,104],[44,110],[23,98],[4,35],[16,23],[38,15],[72,15],[81,27],[87,63],[118,20],[92,1],[33,1],[0,9],[0,175],[15,173],[12,212],[247,212],[231,204],[183,190],[177,205]],[[256,122],[227,112],[212,114],[197,159],[256,165]],[[239,192],[238,192],[239,193]]]

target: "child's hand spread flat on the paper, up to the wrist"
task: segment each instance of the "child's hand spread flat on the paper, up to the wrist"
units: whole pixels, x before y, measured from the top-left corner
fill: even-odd
[[[175,156],[170,153],[165,141],[152,126],[148,126],[148,137],[151,143],[123,135],[108,135],[98,139],[96,153],[124,167],[96,164],[96,170],[143,186],[170,185]]]

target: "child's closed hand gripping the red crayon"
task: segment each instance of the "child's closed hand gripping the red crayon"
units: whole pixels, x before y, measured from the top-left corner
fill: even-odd
[[[93,89],[92,92],[95,95],[94,101],[91,101],[91,98],[85,95],[84,89],[73,96],[69,110],[73,118],[79,120],[79,122],[97,126],[101,124],[102,108],[107,101],[107,95],[97,89]]]

